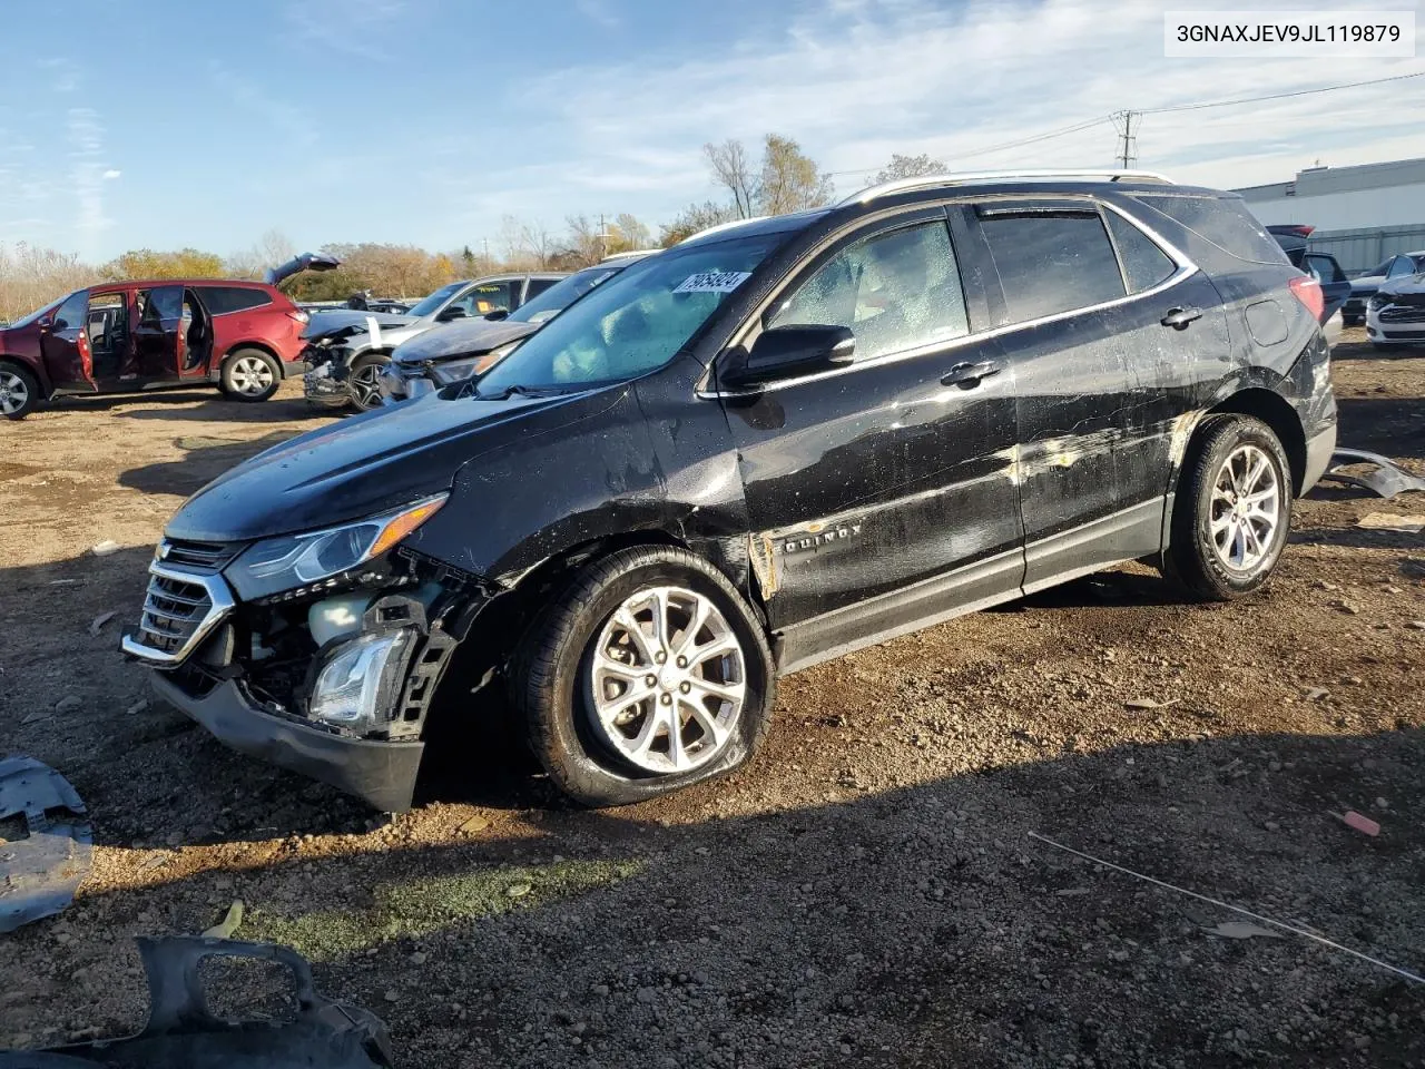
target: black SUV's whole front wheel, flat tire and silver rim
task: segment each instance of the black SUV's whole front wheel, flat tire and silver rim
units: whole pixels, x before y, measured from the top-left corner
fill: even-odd
[[[628,607],[644,599],[647,609]],[[663,643],[644,633],[638,619],[647,613],[651,630],[656,606],[663,606],[663,633],[670,633]],[[688,613],[697,606],[708,609],[707,623],[688,634]],[[667,621],[680,616],[680,630],[673,630]],[[641,641],[616,617],[637,624]],[[608,641],[614,636],[628,641]],[[718,654],[730,641],[737,651]],[[600,649],[627,661],[600,657]],[[691,656],[674,656],[680,650]],[[664,660],[656,663],[658,656]],[[627,688],[610,698],[610,684],[621,688],[624,680]],[[620,550],[583,567],[519,643],[509,687],[550,778],[596,808],[654,798],[744,764],[767,734],[775,700],[772,654],[747,603],[705,560],[667,546]],[[634,688],[647,694],[618,710]],[[740,706],[722,697],[732,693],[740,693]],[[623,717],[628,723],[620,724]],[[648,744],[640,747],[640,740]]]

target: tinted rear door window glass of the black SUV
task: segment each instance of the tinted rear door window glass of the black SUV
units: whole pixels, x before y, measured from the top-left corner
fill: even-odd
[[[1012,324],[1092,308],[1126,292],[1097,212],[982,210],[980,228]]]

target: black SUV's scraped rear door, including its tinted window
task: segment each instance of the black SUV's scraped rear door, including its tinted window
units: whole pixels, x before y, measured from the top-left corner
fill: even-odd
[[[1026,593],[1156,553],[1163,485],[1149,479],[1133,442],[1139,379],[1123,338],[1127,291],[1097,205],[1002,200],[976,217],[999,277],[998,325],[1019,395]]]

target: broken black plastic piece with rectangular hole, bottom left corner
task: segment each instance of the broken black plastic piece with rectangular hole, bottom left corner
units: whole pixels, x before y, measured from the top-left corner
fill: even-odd
[[[148,976],[148,1023],[127,1039],[48,1050],[0,1050],[0,1069],[390,1069],[386,1025],[370,1011],[321,995],[296,951],[256,942],[170,936],[138,939]],[[292,1021],[212,1015],[198,966],[205,958],[285,965],[296,991]]]

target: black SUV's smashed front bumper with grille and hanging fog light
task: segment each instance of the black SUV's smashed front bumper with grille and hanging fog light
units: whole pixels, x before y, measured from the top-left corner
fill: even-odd
[[[123,649],[155,670],[158,697],[234,750],[410,808],[426,714],[487,600],[473,577],[398,550],[335,587],[244,603],[217,570],[158,559],[150,573]]]

